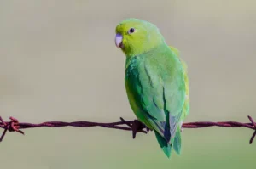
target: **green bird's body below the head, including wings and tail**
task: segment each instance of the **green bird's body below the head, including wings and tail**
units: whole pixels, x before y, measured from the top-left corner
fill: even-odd
[[[171,154],[172,142],[180,153],[180,125],[189,111],[189,88],[177,51],[164,46],[127,58],[125,87],[138,120],[154,130],[166,155]]]

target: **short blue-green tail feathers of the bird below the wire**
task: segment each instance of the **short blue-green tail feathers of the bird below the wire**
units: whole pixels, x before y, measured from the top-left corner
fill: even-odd
[[[175,133],[174,139],[172,139],[172,143],[168,143],[165,138],[163,138],[158,132],[154,131],[155,137],[157,138],[158,143],[160,144],[160,148],[164,151],[168,158],[171,157],[172,147],[177,153],[180,155],[181,153],[181,129],[177,127],[177,131]]]

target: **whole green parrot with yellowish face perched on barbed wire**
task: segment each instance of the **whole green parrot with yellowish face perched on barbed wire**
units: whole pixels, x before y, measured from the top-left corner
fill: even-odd
[[[125,54],[125,90],[131,110],[150,130],[165,155],[181,154],[182,123],[189,115],[189,78],[177,48],[160,29],[136,18],[119,22],[115,45]]]

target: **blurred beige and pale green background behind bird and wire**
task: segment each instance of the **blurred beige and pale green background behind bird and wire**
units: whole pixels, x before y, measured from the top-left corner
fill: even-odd
[[[241,121],[255,112],[253,0],[0,0],[0,115],[22,122],[133,120],[125,55],[115,26],[148,20],[189,66],[189,121]],[[0,130],[2,132],[2,130]],[[168,160],[154,133],[37,128],[7,133],[1,168],[249,168],[256,143],[245,128],[184,129]]]

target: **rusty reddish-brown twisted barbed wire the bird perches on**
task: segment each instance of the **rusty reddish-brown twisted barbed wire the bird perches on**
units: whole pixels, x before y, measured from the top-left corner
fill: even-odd
[[[183,123],[183,128],[202,128],[202,127],[247,127],[253,129],[253,135],[250,139],[250,144],[253,143],[253,139],[256,135],[256,123],[253,121],[251,116],[247,116],[251,121],[249,123],[241,123],[236,121],[198,121],[198,122],[188,122]],[[136,137],[137,132],[147,133],[149,132],[148,127],[145,127],[140,121],[125,121],[120,117],[121,121],[118,122],[91,122],[91,121],[74,121],[74,122],[63,122],[63,121],[47,121],[43,123],[33,124],[27,122],[19,122],[14,117],[9,117],[10,121],[3,121],[0,116],[0,128],[3,128],[3,134],[0,137],[0,142],[2,142],[4,136],[7,132],[19,132],[25,134],[21,129],[36,128],[36,127],[105,127],[113,128],[124,131],[132,131],[132,138]],[[125,126],[124,126],[125,125]]]

